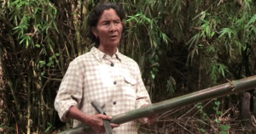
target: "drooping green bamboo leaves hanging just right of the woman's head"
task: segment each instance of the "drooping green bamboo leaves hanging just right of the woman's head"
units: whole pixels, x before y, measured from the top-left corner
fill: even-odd
[[[149,6],[150,8],[153,8],[151,7],[153,6],[153,3],[147,2],[144,6],[145,7]],[[151,14],[151,11],[148,11],[148,12],[138,9],[137,14],[129,15],[128,20],[126,20],[126,22],[133,25],[130,31],[138,31],[141,28],[147,30],[145,33],[147,36],[146,35],[140,36],[141,38],[138,39],[138,41],[144,41],[144,42],[137,42],[137,44],[140,44],[140,43],[150,44],[150,46],[146,46],[143,49],[150,50],[148,54],[150,55],[148,57],[148,62],[152,67],[150,70],[150,75],[151,75],[151,78],[154,80],[156,75],[159,72],[160,63],[158,61],[159,61],[160,53],[162,53],[160,46],[162,45],[162,43],[168,44],[169,42],[171,42],[171,40],[169,39],[168,36],[166,36],[166,33],[164,33],[159,26],[159,22],[161,18],[159,16],[153,16],[153,13]],[[151,16],[151,18],[148,18],[147,15]],[[136,32],[136,34],[140,34],[140,33]],[[148,40],[143,40],[144,38],[148,38]]]

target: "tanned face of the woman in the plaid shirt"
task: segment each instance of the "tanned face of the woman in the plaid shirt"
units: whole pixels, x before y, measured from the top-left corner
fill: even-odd
[[[102,47],[117,47],[121,40],[122,31],[122,21],[113,8],[104,10],[96,29],[92,29]]]

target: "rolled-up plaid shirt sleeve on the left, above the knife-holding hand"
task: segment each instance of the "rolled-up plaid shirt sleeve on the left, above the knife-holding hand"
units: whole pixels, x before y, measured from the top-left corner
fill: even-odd
[[[81,69],[81,68],[80,68]],[[67,121],[66,114],[71,106],[79,106],[83,94],[83,75],[79,73],[79,62],[73,60],[64,75],[55,98],[55,109],[61,121]]]

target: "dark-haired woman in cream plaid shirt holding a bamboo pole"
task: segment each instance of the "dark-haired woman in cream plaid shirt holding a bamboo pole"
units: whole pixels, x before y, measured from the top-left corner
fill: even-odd
[[[86,124],[96,132],[104,132],[102,120],[111,120],[109,115],[151,103],[137,63],[117,48],[123,19],[123,10],[116,3],[101,3],[90,13],[90,39],[97,47],[69,64],[55,98],[61,120],[75,119],[73,127]],[[97,114],[90,105],[92,101],[108,115]],[[146,119],[149,124],[154,121],[155,116]],[[111,126],[114,133],[137,133],[136,120]]]

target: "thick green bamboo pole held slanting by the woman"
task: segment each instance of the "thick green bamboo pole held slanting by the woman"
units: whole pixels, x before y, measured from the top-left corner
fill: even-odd
[[[237,81],[230,81],[216,87],[209,87],[198,92],[192,92],[160,103],[153,103],[141,109],[134,109],[122,114],[114,115],[110,122],[114,124],[123,124],[131,120],[164,113],[170,109],[177,109],[193,103],[211,100],[212,98],[220,98],[236,92],[247,91],[254,87],[256,87],[256,75]],[[90,131],[90,129],[88,129],[88,126],[86,128],[80,126],[73,128],[72,130],[62,131],[60,134],[75,134],[83,131]]]

